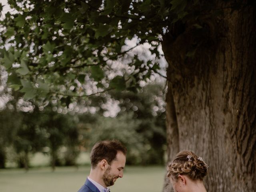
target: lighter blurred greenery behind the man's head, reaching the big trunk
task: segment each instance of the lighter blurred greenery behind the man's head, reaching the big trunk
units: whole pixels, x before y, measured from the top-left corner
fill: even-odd
[[[115,118],[104,117],[109,116],[107,109],[94,116],[81,115],[84,145],[92,147],[98,140],[118,139],[128,148],[128,164],[164,164],[163,88],[161,84],[149,84],[137,94],[110,92],[118,100],[120,112]]]

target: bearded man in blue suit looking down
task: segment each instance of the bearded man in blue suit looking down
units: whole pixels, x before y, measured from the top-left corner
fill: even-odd
[[[109,192],[108,187],[123,177],[126,152],[117,140],[96,143],[90,154],[90,175],[78,192]]]

